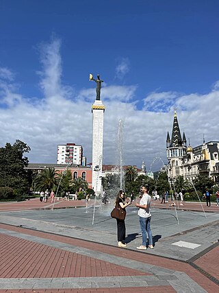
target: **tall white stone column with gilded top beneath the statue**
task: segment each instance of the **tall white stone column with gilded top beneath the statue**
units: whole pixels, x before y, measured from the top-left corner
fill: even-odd
[[[92,104],[93,137],[92,137],[92,187],[96,195],[101,194],[101,177],[103,164],[103,113],[105,106],[101,100]]]

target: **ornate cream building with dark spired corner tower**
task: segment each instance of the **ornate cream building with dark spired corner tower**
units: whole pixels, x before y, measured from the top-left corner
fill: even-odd
[[[169,132],[166,138],[166,152],[168,159],[168,178],[175,180],[177,176],[184,176],[188,180],[193,180],[199,174],[204,174],[212,178],[214,182],[219,182],[219,141],[209,141],[195,148],[188,145],[183,132],[181,132],[175,112],[172,126],[172,137]]]

